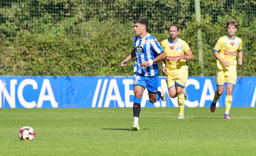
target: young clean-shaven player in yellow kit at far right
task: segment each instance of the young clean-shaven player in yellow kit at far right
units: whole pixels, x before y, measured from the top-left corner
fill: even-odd
[[[237,31],[237,20],[230,20],[227,23],[228,34],[220,37],[217,41],[213,55],[217,58],[216,85],[217,91],[211,104],[211,112],[216,109],[216,102],[223,94],[226,84],[225,115],[224,119],[230,119],[229,110],[232,103],[232,91],[236,84],[236,64],[242,65],[243,51],[242,40],[235,36]],[[238,62],[236,61],[238,54]]]

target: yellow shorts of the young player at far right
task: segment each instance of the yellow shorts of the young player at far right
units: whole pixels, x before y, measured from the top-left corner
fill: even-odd
[[[224,86],[225,84],[231,84],[235,86],[236,84],[236,68],[231,70],[219,70],[216,69],[216,85],[217,86]]]

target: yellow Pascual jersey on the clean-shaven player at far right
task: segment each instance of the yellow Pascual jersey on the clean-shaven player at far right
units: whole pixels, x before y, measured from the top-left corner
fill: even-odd
[[[225,65],[217,59],[217,69],[230,70],[236,68],[236,54],[242,51],[242,40],[235,36],[234,39],[229,39],[228,36],[220,37],[213,49],[218,52],[220,57],[230,62],[230,66]]]

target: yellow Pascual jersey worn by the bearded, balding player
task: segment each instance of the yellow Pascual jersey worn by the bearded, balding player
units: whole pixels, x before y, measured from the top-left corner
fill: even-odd
[[[180,59],[180,53],[191,53],[188,44],[184,40],[178,38],[176,42],[171,43],[168,38],[161,42],[161,46],[166,55],[165,63],[167,69],[188,69],[187,60]]]

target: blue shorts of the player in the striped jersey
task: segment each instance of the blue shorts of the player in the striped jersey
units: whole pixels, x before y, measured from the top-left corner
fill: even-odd
[[[157,93],[158,88],[158,75],[146,77],[144,75],[135,73],[133,79],[133,86],[142,86],[147,88],[151,93]]]

